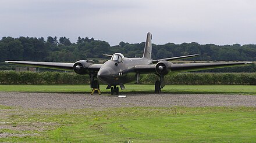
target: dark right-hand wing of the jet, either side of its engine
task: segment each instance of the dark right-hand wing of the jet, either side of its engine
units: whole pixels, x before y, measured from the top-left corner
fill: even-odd
[[[170,64],[169,70],[173,72],[189,72],[189,71],[200,71],[204,69],[214,69],[214,68],[226,68],[234,67],[239,65],[252,64],[252,62],[230,62],[230,63],[189,63],[189,64]],[[135,72],[140,72],[141,74],[157,74],[156,64],[151,65],[136,65],[134,67]]]

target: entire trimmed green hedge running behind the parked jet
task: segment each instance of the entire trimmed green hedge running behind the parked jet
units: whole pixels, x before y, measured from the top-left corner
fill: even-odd
[[[154,84],[154,74],[144,75],[140,83]],[[88,75],[74,72],[15,72],[0,71],[0,84],[5,85],[55,85],[89,84]],[[256,85],[256,73],[180,73],[165,76],[166,85]]]

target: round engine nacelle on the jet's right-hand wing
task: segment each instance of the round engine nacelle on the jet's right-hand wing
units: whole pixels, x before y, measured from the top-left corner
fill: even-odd
[[[157,71],[159,75],[167,75],[170,72],[171,66],[172,63],[170,63],[169,61],[159,61],[155,65],[155,71]]]

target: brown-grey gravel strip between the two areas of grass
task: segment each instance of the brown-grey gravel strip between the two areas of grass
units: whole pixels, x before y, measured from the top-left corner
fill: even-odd
[[[256,107],[256,96],[231,94],[131,94],[0,92],[0,105],[37,109],[82,109],[108,107]]]

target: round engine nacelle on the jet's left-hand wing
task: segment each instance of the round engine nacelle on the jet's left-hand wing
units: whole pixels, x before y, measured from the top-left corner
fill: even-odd
[[[77,61],[76,63],[74,63],[73,70],[74,70],[74,72],[76,72],[76,74],[85,75],[85,74],[89,73],[88,67],[91,64],[94,64],[94,61],[80,60],[80,61]]]

